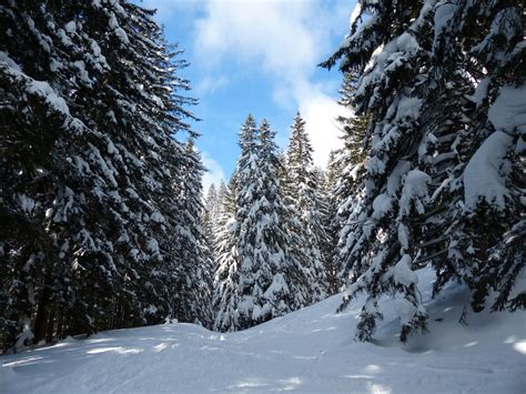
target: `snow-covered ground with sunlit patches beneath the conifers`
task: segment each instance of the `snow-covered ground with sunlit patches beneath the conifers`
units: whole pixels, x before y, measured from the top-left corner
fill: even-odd
[[[431,281],[419,273],[427,300]],[[403,346],[393,301],[383,303],[374,343],[356,343],[360,307],[335,314],[340,300],[232,334],[165,324],[3,356],[0,392],[526,392],[523,312],[472,313],[467,326],[458,324],[467,294],[451,286],[427,303],[431,333]]]

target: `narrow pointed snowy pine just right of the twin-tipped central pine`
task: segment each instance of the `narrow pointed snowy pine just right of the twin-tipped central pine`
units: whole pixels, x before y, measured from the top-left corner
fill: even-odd
[[[313,149],[300,112],[291,125],[291,138],[286,151],[285,173],[287,180],[286,201],[291,211],[290,231],[295,235],[294,252],[307,276],[310,303],[323,300],[327,294],[327,261],[322,251],[328,243],[323,225],[324,201],[320,191],[320,176],[312,159]]]

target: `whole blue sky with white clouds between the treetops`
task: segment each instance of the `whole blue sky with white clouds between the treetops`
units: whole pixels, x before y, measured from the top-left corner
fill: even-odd
[[[347,32],[354,0],[143,0],[158,9],[166,39],[184,49],[202,119],[194,129],[210,170],[204,185],[227,179],[249,113],[266,118],[286,148],[297,110],[307,122],[315,162],[338,144],[334,118],[341,74],[316,67]]]

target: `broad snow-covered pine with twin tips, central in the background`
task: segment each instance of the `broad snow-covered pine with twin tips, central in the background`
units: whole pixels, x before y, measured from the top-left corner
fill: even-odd
[[[235,213],[220,233],[215,327],[247,329],[308,303],[307,275],[292,253],[275,133],[250,115],[233,175]]]

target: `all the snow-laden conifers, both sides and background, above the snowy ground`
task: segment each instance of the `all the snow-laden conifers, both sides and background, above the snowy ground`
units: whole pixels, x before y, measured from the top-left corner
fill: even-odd
[[[203,198],[196,100],[153,11],[0,4],[0,346],[166,320],[237,331],[344,290],[397,299],[426,331],[416,271],[474,312],[524,309],[524,21],[509,0],[358,1],[340,61],[342,148],[314,165],[249,115]],[[188,137],[184,141],[183,137]]]

